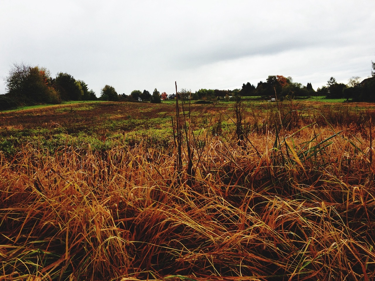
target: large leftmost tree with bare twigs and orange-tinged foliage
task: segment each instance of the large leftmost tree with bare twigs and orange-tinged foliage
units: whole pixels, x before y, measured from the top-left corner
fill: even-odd
[[[29,65],[14,64],[5,78],[6,96],[17,103],[60,103],[61,99],[52,87],[49,70]]]

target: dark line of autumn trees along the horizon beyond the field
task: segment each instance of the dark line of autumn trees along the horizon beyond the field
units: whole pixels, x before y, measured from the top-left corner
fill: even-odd
[[[295,97],[309,97],[313,95],[326,96],[329,99],[352,99],[356,102],[375,102],[375,63],[372,62],[372,77],[360,81],[359,77],[352,77],[348,84],[337,83],[331,77],[327,85],[315,91],[311,83],[306,86],[293,82],[291,77],[270,75],[266,82],[260,81],[257,86],[250,82],[243,83],[241,89],[212,90],[200,89],[192,93],[181,89],[183,99],[214,100],[229,99],[233,96],[261,96],[264,99],[277,97],[278,99],[293,99]],[[23,63],[14,64],[5,79],[6,93],[0,95],[0,110],[16,108],[21,105],[58,104],[65,100],[96,100],[93,90],[82,80],[76,80],[68,73],[60,72],[52,78],[49,70],[39,66],[29,66]],[[99,100],[110,101],[150,101],[159,103],[161,100],[173,99],[175,94],[159,93],[155,88],[153,94],[147,90],[134,90],[129,95],[117,94],[114,87],[105,85],[101,90]]]

